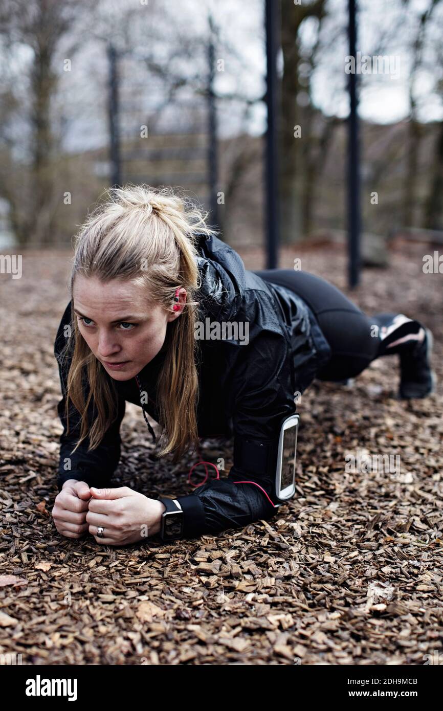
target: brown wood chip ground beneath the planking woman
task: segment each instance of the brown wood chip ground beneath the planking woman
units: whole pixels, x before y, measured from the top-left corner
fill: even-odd
[[[442,275],[423,248],[391,255],[349,294],[346,258],[284,250],[282,267],[326,277],[368,314],[400,311],[434,333],[437,392],[397,400],[397,356],[352,387],[301,397],[297,496],[269,522],[161,545],[61,537],[50,515],[61,424],[53,341],[69,301],[70,252],[23,250],[0,275],[0,654],[23,664],[392,665],[443,661]],[[432,252],[429,252],[432,253]],[[260,250],[243,255],[263,265]],[[128,405],[117,482],[189,493],[188,469],[153,462]],[[232,441],[202,442],[232,465]],[[400,472],[346,473],[345,458],[400,455]]]

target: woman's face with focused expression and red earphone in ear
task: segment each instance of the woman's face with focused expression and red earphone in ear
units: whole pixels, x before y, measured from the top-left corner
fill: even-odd
[[[132,281],[75,277],[73,301],[78,328],[95,358],[114,380],[130,380],[164,344],[169,321],[180,316],[186,289],[178,291],[180,311],[146,304],[146,287]],[[112,364],[123,363],[119,368]]]

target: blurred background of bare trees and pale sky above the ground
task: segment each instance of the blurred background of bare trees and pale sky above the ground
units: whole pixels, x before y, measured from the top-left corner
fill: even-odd
[[[0,249],[69,246],[126,182],[183,188],[245,253],[267,215],[282,247],[346,243],[348,1],[269,4],[274,208],[264,0],[1,0]],[[359,0],[356,22],[385,60],[356,69],[363,265],[383,267],[396,237],[443,242],[443,1]]]

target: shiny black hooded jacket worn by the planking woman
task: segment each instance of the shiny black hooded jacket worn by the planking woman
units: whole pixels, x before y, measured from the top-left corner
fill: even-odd
[[[203,324],[206,319],[210,319],[210,324],[248,322],[249,343],[242,343],[241,333],[237,341],[232,338],[200,341],[198,434],[233,435],[234,465],[227,478],[212,479],[188,496],[176,497],[184,512],[185,538],[238,528],[275,513],[277,508],[269,503],[259,486],[235,481],[254,481],[274,504],[279,503],[274,491],[274,472],[282,421],[296,410],[295,393],[304,392],[331,357],[314,314],[294,292],[265,282],[245,269],[237,252],[218,237],[202,236],[198,252],[202,281],[197,296],[201,302],[200,320]],[[65,344],[64,326],[69,323],[70,303],[55,338],[57,359]],[[142,390],[149,395],[149,404],[144,408],[156,420],[156,375],[165,353],[166,348],[162,348],[138,374]],[[119,426],[125,402],[141,406],[137,383],[135,378],[114,380],[119,395],[117,419],[97,449],[87,453],[88,438],[85,438],[71,456],[80,432],[80,417],[72,406],[67,436],[64,415],[67,371],[68,366],[62,368],[59,362],[63,399],[58,404],[58,415],[64,429],[60,435],[58,489],[67,479],[107,486],[119,462]],[[88,412],[90,422],[92,405],[93,402]]]

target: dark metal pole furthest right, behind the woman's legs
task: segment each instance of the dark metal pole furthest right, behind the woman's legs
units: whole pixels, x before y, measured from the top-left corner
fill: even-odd
[[[349,0],[349,55],[356,59],[356,0]],[[360,163],[358,154],[358,95],[357,75],[349,74],[348,117],[348,284],[357,286],[360,276]]]

